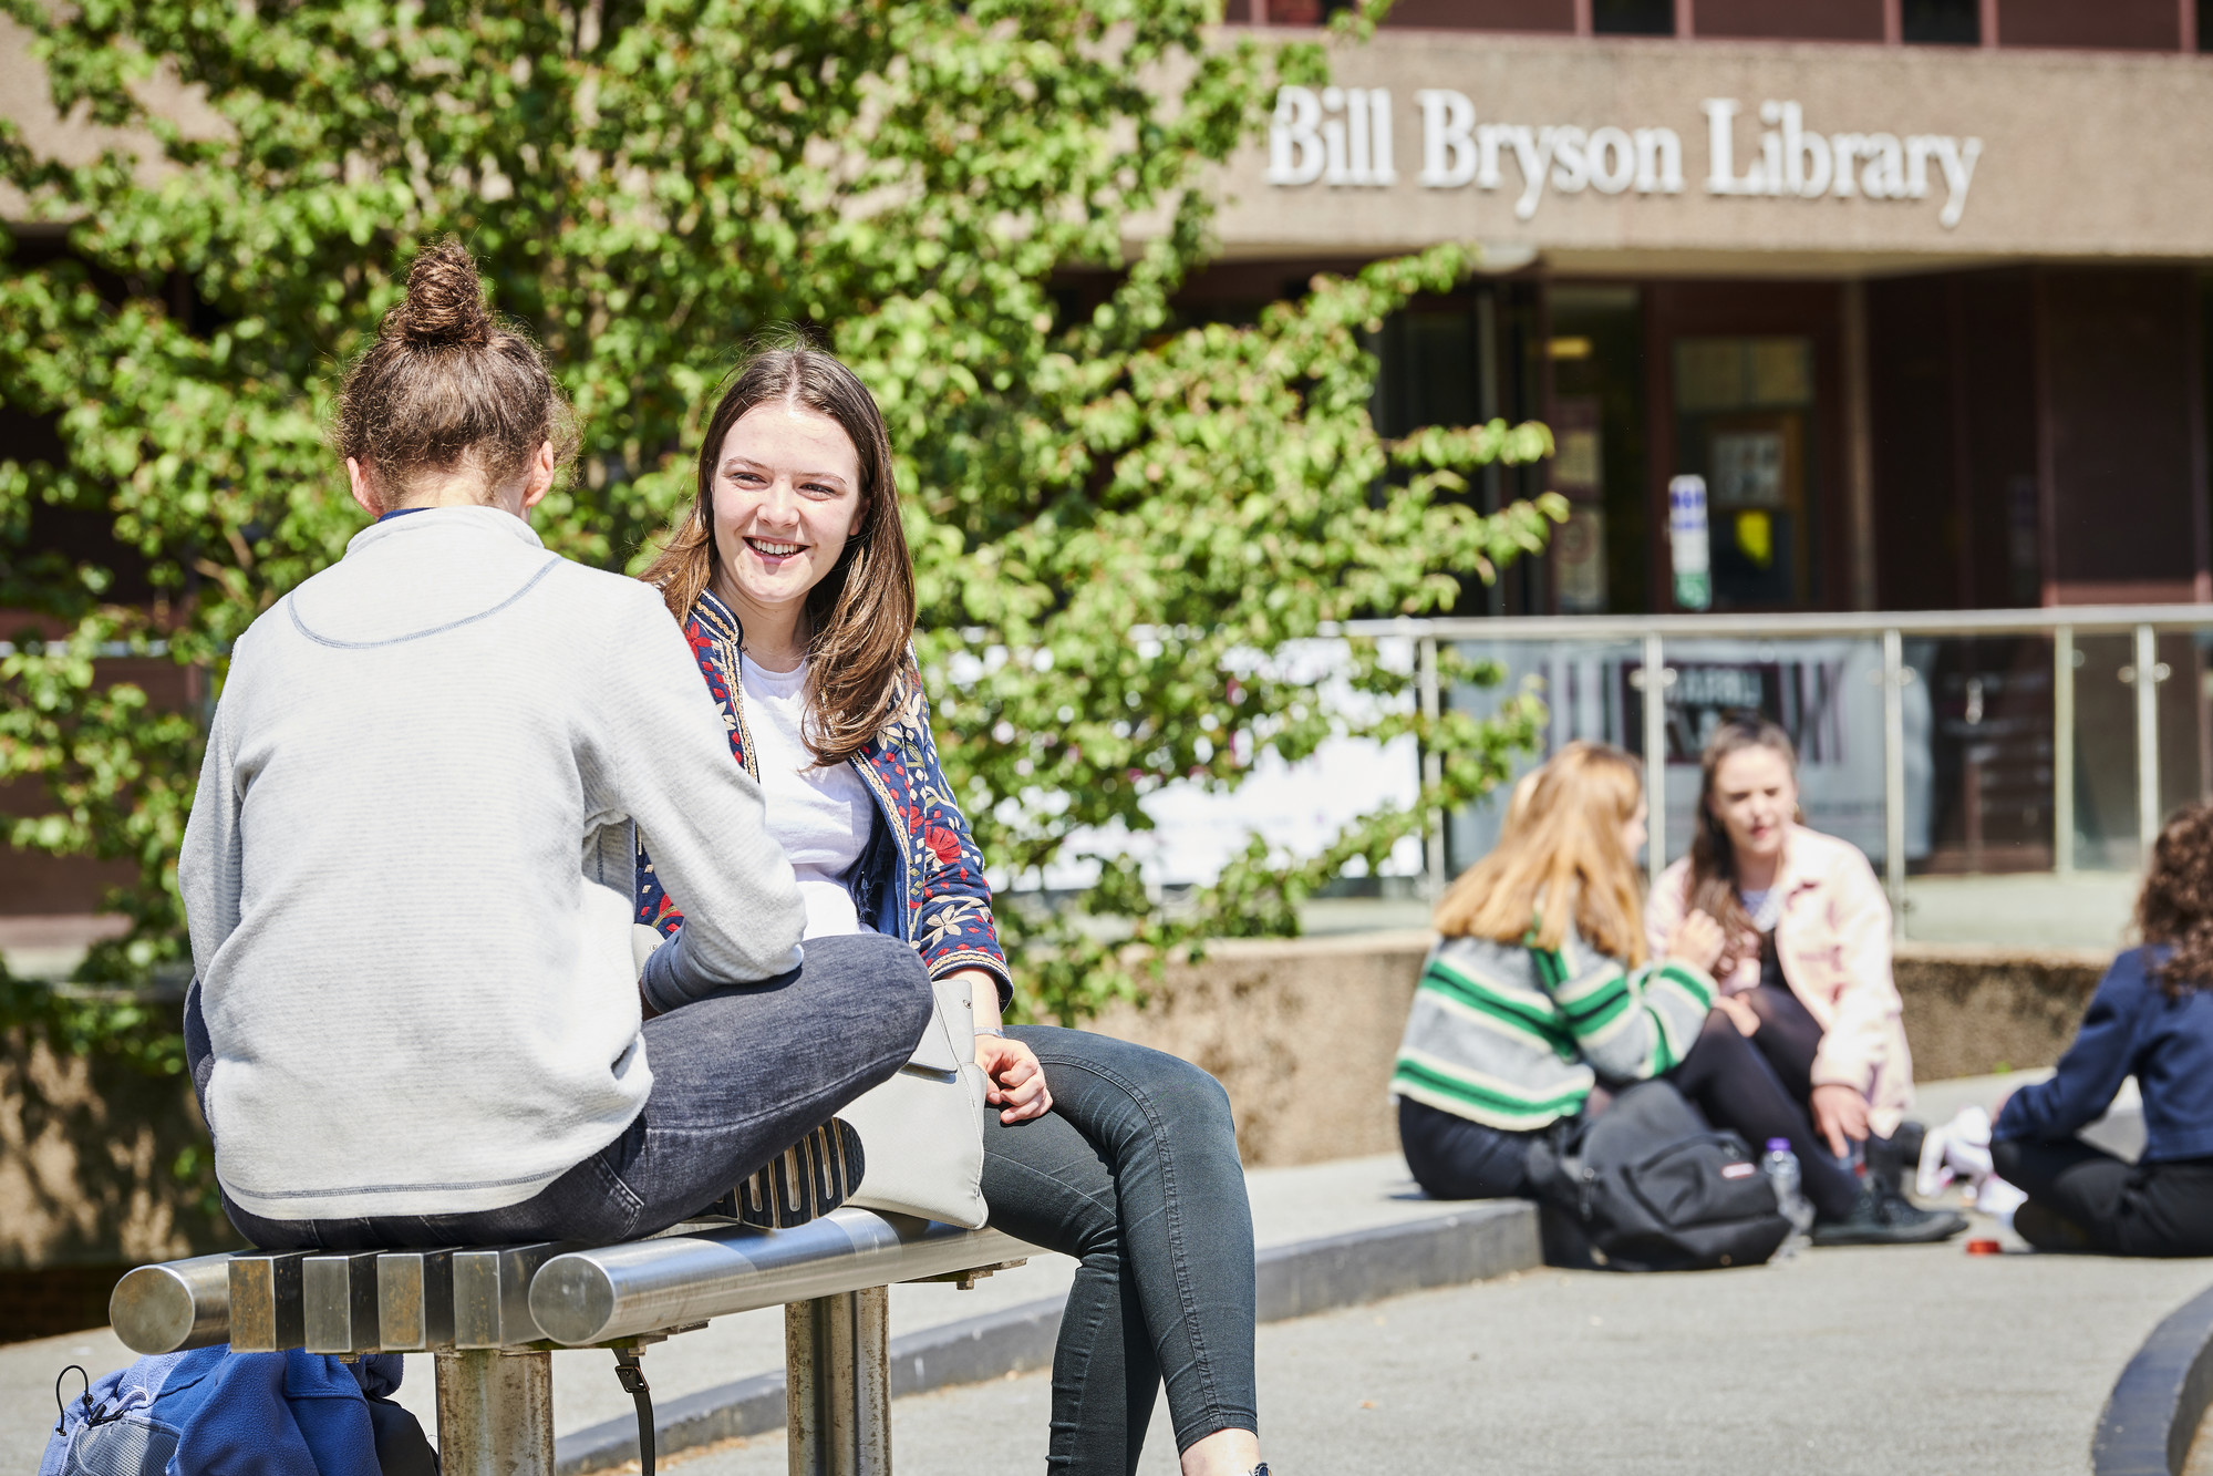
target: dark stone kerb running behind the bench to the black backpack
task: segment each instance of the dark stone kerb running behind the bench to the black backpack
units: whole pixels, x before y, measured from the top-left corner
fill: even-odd
[[[1540,1264],[1536,1206],[1520,1199],[1467,1204],[1445,1215],[1323,1239],[1270,1246],[1255,1275],[1259,1321],[1286,1321],[1432,1286],[1461,1286]],[[1060,1297],[892,1339],[892,1396],[1049,1368],[1060,1337]],[[646,1376],[653,1376],[651,1361]],[[786,1421],[783,1374],[757,1374],[653,1407],[657,1456],[733,1436],[768,1434]],[[637,1421],[613,1418],[553,1445],[558,1476],[637,1461]]]

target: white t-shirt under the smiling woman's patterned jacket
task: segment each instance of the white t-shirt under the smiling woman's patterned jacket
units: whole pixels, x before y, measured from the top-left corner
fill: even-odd
[[[792,859],[799,896],[808,905],[808,936],[856,934],[861,914],[852,905],[845,874],[867,850],[876,801],[852,763],[821,768],[799,739],[808,706],[806,662],[799,671],[763,671],[739,655],[737,668],[752,761],[761,770],[761,799],[768,803],[768,834]]]

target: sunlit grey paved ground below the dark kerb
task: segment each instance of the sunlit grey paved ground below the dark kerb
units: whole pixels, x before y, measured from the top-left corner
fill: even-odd
[[[2078,1474],[2113,1376],[2204,1261],[1808,1250],[1695,1277],[1529,1272],[1259,1332],[1275,1469]],[[1036,1469],[1045,1374],[898,1401],[901,1476]],[[781,1436],[677,1456],[779,1476]],[[1146,1476],[1175,1469],[1160,1416]]]

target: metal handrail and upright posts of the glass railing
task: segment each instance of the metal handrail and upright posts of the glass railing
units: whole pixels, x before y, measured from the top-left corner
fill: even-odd
[[[2127,633],[2131,666],[2124,682],[2136,686],[2136,825],[2140,845],[2149,852],[2160,830],[2160,697],[2158,684],[2171,673],[2158,659],[2160,631],[2198,631],[2213,626],[2213,604],[2069,604],[2023,611],[1793,611],[1768,615],[1403,615],[1396,620],[1346,620],[1321,628],[1323,635],[1412,640],[1416,682],[1425,717],[1436,715],[1438,642],[1622,642],[1640,648],[1640,671],[1660,673],[1660,686],[1675,682],[1666,666],[1669,640],[1755,637],[1808,640],[1824,635],[1857,635],[1883,644],[1883,890],[1890,894],[1890,921],[1899,940],[1905,938],[1905,704],[1903,688],[1914,679],[1905,666],[1908,635],[2049,635],[2051,637],[2051,863],[2058,874],[2074,872],[2074,659],[2076,635]],[[2142,679],[2138,677],[2142,673]],[[1644,805],[1649,841],[1644,859],[1651,883],[1660,883],[1666,865],[1666,704],[1644,704]],[[1434,755],[1423,755],[1423,779],[1436,779]],[[1430,892],[1443,887],[1443,817],[1427,817],[1425,859]]]

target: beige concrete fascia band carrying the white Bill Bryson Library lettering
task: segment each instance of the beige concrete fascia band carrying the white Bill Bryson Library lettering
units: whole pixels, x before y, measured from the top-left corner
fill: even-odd
[[[2087,0],[2085,0],[2087,2]],[[1383,29],[1219,175],[1235,259],[1567,274],[2213,261],[2198,55]]]

